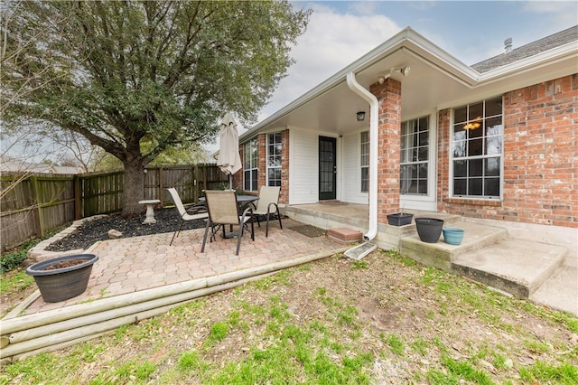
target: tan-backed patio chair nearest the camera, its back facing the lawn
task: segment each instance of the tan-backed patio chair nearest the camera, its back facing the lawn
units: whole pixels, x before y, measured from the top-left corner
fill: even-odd
[[[207,210],[209,210],[209,220],[205,228],[205,236],[202,239],[202,247],[200,252],[205,251],[205,244],[207,243],[207,234],[210,234],[210,242],[215,239],[215,235],[219,232],[219,228],[223,230],[223,238],[232,238],[237,236],[237,252],[241,247],[241,239],[243,232],[247,229],[251,233],[251,239],[255,240],[255,228],[253,221],[253,209],[247,207],[241,215],[238,213],[237,195],[233,190],[205,190],[205,200],[207,202]],[[248,224],[251,224],[251,230],[248,229]],[[232,234],[227,234],[225,227],[229,225],[232,230],[232,225],[238,225],[238,230]]]

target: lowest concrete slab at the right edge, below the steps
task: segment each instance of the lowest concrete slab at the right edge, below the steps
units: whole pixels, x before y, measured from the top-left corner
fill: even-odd
[[[564,264],[536,289],[530,299],[556,310],[578,315],[578,268]]]

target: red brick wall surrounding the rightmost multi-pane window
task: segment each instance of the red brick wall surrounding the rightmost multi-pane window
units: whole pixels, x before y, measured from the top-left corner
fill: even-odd
[[[503,202],[449,198],[450,117],[438,118],[438,211],[578,228],[578,74],[504,95]]]

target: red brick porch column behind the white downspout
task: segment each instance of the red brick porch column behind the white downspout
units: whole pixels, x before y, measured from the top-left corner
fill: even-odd
[[[399,161],[401,151],[401,83],[387,79],[369,91],[379,100],[378,223],[399,211]]]

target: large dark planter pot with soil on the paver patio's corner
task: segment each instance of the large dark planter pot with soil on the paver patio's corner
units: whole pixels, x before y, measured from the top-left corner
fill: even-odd
[[[51,266],[72,260],[82,260],[81,263],[66,268]],[[73,296],[79,296],[89,285],[92,265],[98,261],[95,254],[76,254],[66,257],[51,258],[37,262],[26,268],[26,274],[33,276],[44,302],[61,302]],[[47,268],[49,268],[47,270]]]

